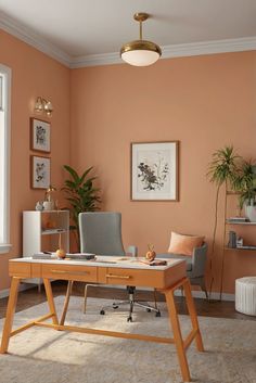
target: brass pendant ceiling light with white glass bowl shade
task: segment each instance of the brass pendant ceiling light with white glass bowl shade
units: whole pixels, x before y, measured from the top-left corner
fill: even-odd
[[[150,17],[148,13],[136,13],[133,18],[140,23],[140,39],[125,43],[120,49],[121,59],[130,65],[149,66],[162,55],[159,46],[155,42],[142,40],[142,23]]]

